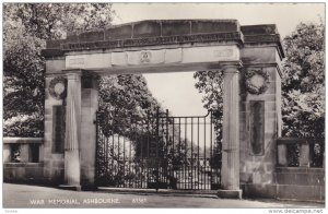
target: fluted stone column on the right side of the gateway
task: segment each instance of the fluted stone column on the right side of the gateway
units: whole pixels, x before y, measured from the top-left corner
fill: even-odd
[[[223,141],[219,197],[242,198],[239,189],[239,63],[224,64]]]

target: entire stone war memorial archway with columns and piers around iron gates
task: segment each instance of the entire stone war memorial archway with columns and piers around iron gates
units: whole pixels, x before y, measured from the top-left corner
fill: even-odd
[[[284,52],[274,24],[156,20],[48,40],[44,175],[63,187],[95,185],[97,75],[223,71],[219,197],[270,195],[281,135]]]

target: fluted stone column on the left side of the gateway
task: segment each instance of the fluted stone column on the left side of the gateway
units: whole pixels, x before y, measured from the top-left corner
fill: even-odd
[[[80,190],[81,71],[67,73],[65,187]]]

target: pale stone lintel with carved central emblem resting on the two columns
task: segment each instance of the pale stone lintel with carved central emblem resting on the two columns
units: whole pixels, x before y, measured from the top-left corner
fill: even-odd
[[[225,67],[239,67],[239,59],[237,45],[83,54],[67,56],[67,70],[62,73],[79,70],[107,74],[213,70],[220,69],[221,62]]]

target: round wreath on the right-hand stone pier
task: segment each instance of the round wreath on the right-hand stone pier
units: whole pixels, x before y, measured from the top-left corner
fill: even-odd
[[[245,72],[246,90],[250,94],[262,94],[269,86],[269,73],[263,69],[253,69]]]

